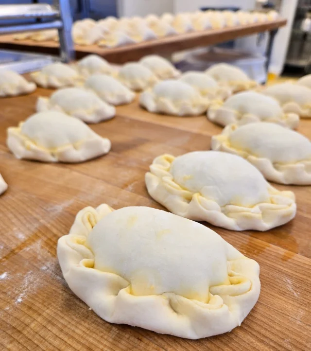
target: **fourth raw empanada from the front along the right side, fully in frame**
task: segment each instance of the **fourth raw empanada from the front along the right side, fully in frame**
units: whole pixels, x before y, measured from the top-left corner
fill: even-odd
[[[221,125],[265,121],[297,128],[299,123],[298,115],[284,113],[276,99],[255,91],[235,94],[225,103],[222,101],[212,103],[208,108],[207,118]]]

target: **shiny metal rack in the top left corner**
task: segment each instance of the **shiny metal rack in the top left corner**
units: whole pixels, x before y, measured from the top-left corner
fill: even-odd
[[[13,21],[13,24],[3,24],[8,20]],[[25,20],[27,23],[23,23]],[[42,54],[0,52],[0,68],[12,68],[24,73],[40,69],[53,60],[71,61],[74,59],[71,25],[69,0],[53,0],[52,5],[45,3],[0,5],[0,35],[57,29],[60,44],[58,58]]]

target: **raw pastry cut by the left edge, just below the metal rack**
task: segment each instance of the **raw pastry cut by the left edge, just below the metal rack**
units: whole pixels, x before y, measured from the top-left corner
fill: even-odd
[[[0,97],[30,94],[36,89],[33,82],[13,70],[0,70]]]

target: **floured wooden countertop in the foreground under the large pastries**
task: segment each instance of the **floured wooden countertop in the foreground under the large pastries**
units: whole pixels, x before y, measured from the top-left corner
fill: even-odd
[[[259,301],[231,333],[187,340],[105,322],[68,288],[56,259],[57,239],[85,206],[161,208],[148,195],[144,174],[162,154],[208,150],[221,128],[205,116],[150,114],[137,103],[91,125],[112,141],[111,152],[82,164],[17,160],[5,146],[6,128],[35,112],[37,89],[0,99],[0,173],[9,188],[0,197],[0,345],[2,350],[206,351],[311,348],[311,186],[294,191],[298,212],[267,232],[216,230],[260,264]],[[311,137],[311,120],[299,131]]]

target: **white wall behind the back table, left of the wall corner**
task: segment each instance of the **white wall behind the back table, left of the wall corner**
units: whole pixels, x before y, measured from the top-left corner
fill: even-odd
[[[162,15],[164,12],[173,12],[173,2],[173,0],[117,0],[118,15],[119,17]]]

